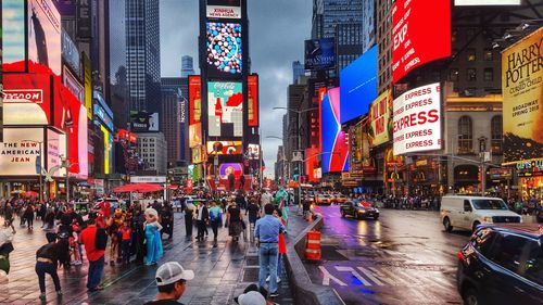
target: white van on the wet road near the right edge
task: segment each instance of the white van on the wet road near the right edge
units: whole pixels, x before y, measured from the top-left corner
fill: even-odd
[[[441,200],[441,221],[445,231],[475,230],[480,224],[522,223],[498,198],[445,195]]]

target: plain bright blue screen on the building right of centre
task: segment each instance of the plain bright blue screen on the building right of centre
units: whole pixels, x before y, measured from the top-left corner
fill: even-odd
[[[377,46],[340,72],[341,123],[368,112],[377,98]]]

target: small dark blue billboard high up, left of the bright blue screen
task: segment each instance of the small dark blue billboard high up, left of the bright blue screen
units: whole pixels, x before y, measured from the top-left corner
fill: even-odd
[[[305,69],[329,69],[336,66],[336,41],[333,38],[305,40]]]

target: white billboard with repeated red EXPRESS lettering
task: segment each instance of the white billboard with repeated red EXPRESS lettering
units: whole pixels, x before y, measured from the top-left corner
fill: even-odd
[[[434,82],[394,100],[394,155],[441,149],[441,92]]]

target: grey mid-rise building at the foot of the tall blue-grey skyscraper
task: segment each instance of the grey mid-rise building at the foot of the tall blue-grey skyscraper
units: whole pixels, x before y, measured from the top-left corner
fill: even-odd
[[[143,173],[166,175],[167,144],[162,132],[138,132],[138,152],[143,162]]]

